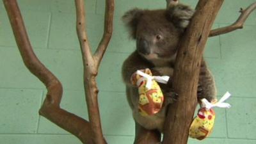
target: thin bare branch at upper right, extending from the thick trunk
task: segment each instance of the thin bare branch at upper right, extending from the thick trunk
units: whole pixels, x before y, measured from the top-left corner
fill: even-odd
[[[231,24],[230,26],[225,26],[223,28],[213,29],[211,30],[211,33],[209,36],[222,35],[222,34],[234,31],[236,29],[242,29],[245,20],[248,18],[250,13],[252,13],[253,10],[255,9],[256,9],[256,2],[248,6],[248,8],[246,8],[245,10],[241,10],[241,15],[236,20],[236,22],[234,22],[234,24]]]

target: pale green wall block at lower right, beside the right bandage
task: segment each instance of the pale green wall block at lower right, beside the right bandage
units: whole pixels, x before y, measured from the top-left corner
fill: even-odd
[[[228,138],[256,138],[256,99],[236,98],[229,100],[232,108],[227,109]]]

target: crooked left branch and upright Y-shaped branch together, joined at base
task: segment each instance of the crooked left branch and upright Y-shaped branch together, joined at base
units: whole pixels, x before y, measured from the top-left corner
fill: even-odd
[[[74,134],[86,144],[106,144],[102,136],[100,125],[99,107],[97,102],[97,84],[95,77],[100,60],[111,38],[114,0],[106,0],[105,30],[100,48],[96,56],[92,56],[85,31],[84,3],[83,0],[76,1],[77,8],[77,35],[79,36],[84,62],[84,88],[86,89],[86,102],[88,106],[90,123],[79,116],[76,116],[60,108],[63,88],[57,77],[54,76],[39,60],[29,42],[26,28],[20,14],[16,0],[3,0],[13,29],[15,40],[19,47],[22,60],[26,67],[34,74],[47,88],[47,95],[44,104],[40,109],[40,115],[51,120],[66,131]]]

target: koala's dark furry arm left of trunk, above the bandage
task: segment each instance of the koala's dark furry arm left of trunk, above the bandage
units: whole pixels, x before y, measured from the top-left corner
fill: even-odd
[[[132,86],[131,76],[136,72],[136,70],[141,70],[145,68],[151,68],[152,65],[148,61],[141,58],[138,52],[133,52],[123,63],[122,66],[122,77],[124,83],[128,86]]]

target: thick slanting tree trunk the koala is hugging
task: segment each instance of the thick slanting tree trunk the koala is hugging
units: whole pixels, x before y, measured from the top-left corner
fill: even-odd
[[[188,142],[189,127],[197,104],[200,62],[222,3],[223,0],[200,0],[189,28],[182,37],[173,75],[174,90],[179,93],[179,99],[168,108],[163,144]]]

